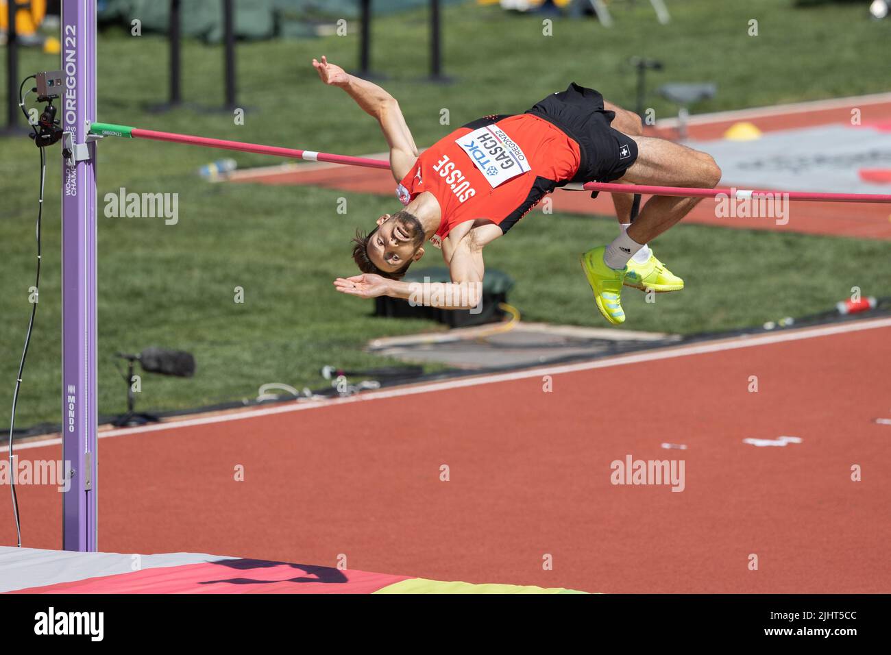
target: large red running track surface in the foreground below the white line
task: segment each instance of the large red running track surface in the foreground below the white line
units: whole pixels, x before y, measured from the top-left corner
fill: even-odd
[[[608,593],[888,593],[889,337],[891,319],[860,321],[124,431],[100,440],[100,549],[344,553],[351,569]],[[782,435],[802,443],[742,442]],[[611,485],[626,454],[683,459],[683,493]],[[58,547],[60,496],[20,487],[20,506],[25,544]]]

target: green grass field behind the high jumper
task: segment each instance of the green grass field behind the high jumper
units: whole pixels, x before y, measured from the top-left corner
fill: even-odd
[[[426,69],[423,12],[375,22],[374,66],[399,98],[419,145],[451,126],[491,112],[522,111],[569,80],[595,86],[608,98],[634,102],[634,78],[625,66],[634,54],[658,58],[663,81],[715,80],[719,94],[697,111],[717,111],[888,90],[887,39],[891,22],[864,18],[860,4],[821,4],[797,9],[781,0],[722,3],[686,0],[670,5],[674,21],[658,25],[646,3],[619,4],[616,25],[556,20],[552,37],[533,16],[512,15],[476,4],[445,11],[446,72],[450,86],[421,81]],[[758,20],[758,37],[747,34]],[[363,154],[384,142],[371,119],[345,94],[321,85],[309,66],[326,53],[356,64],[356,25],[347,37],[239,45],[245,124],[230,115],[184,109],[156,115],[146,110],[167,93],[163,37],[102,33],[99,50],[99,119],[257,143]],[[58,66],[57,57],[26,51],[27,74]],[[186,99],[205,107],[222,101],[222,53],[184,44]],[[657,116],[673,108],[653,99]],[[37,149],[22,136],[0,139],[0,399],[12,397],[28,321],[33,283],[37,211]],[[395,201],[358,193],[287,186],[208,184],[196,170],[229,156],[168,143],[110,140],[101,144],[100,200],[106,192],[177,192],[179,223],[162,219],[99,217],[100,412],[124,406],[124,382],[113,354],[150,345],[191,350],[198,361],[192,380],[145,376],[143,409],[193,407],[255,397],[257,387],[282,381],[320,383],[322,364],[379,364],[364,354],[377,336],[432,327],[422,321],[371,317],[372,301],[341,296],[331,288],[352,274],[348,238],[357,226],[396,209]],[[44,215],[44,269],[18,424],[58,422],[60,389],[59,149],[48,151]],[[240,168],[274,163],[236,154]],[[337,211],[347,198],[347,214]],[[843,211],[844,209],[839,209]],[[547,227],[546,232],[543,226]],[[608,242],[613,218],[530,215],[486,250],[486,263],[517,281],[512,304],[535,321],[602,326],[576,253]],[[683,274],[688,288],[646,304],[627,293],[627,326],[639,330],[701,332],[805,315],[831,307],[852,286],[887,295],[891,246],[868,242],[678,225],[656,243],[658,254]],[[437,262],[430,261],[430,265]],[[234,288],[245,302],[233,301]],[[0,421],[8,421],[8,403]]]

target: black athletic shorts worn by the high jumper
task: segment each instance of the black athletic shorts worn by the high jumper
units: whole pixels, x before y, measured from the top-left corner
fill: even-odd
[[[637,143],[610,127],[615,111],[603,109],[603,96],[572,82],[526,111],[560,127],[578,143],[580,160],[572,182],[610,182],[625,175],[637,160]]]

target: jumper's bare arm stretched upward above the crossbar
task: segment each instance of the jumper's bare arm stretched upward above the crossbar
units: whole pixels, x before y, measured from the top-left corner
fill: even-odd
[[[418,159],[418,148],[414,145],[412,133],[405,124],[396,98],[380,86],[350,75],[324,55],[322,61],[313,60],[313,67],[325,84],[342,88],[365,113],[377,119],[389,144],[390,171],[396,182],[400,181]]]

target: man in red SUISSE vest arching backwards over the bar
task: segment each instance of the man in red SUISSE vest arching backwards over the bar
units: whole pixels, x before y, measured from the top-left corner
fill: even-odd
[[[322,81],[339,86],[377,119],[389,144],[390,170],[404,208],[357,234],[353,258],[362,274],[338,278],[338,291],[361,298],[417,296],[401,282],[425,243],[442,250],[455,289],[442,284],[430,297],[462,298],[442,308],[469,308],[479,288],[483,249],[503,236],[545,195],[570,182],[610,182],[715,188],[721,169],[705,152],[642,135],[641,119],[572,83],[526,112],[474,120],[419,154],[396,99],[380,86],[347,74],[323,56],[313,60]],[[594,300],[609,323],[625,322],[623,285],[642,291],[680,291],[672,274],[647,247],[700,199],[654,196],[630,221],[633,196],[614,193],[623,229],[605,246],[581,256]],[[630,223],[630,225],[629,225]],[[542,238],[547,238],[546,224]],[[450,300],[451,302],[451,300]]]

